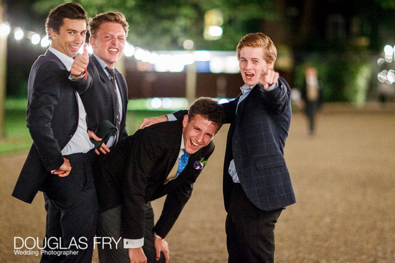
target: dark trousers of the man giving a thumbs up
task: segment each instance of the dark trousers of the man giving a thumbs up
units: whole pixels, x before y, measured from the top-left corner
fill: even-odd
[[[98,203],[91,154],[65,156],[66,177],[48,175],[44,183],[46,233],[41,262],[91,263]]]

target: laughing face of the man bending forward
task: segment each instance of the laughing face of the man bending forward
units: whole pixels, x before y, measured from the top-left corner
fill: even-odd
[[[197,114],[191,120],[188,119],[188,115],[185,115],[183,120],[185,150],[189,154],[196,153],[205,147],[217,132],[217,124],[208,121],[202,115]]]

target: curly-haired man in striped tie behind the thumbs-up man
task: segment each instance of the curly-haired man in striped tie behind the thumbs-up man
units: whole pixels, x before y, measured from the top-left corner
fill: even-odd
[[[88,73],[94,77],[92,88],[81,95],[88,114],[88,133],[94,140],[101,141],[104,138],[99,138],[95,132],[103,121],[107,120],[117,128],[116,134],[94,150],[96,154],[110,152],[111,146],[128,137],[125,126],[128,86],[114,66],[125,48],[128,30],[129,24],[121,13],[102,13],[89,19],[89,42],[93,54]]]

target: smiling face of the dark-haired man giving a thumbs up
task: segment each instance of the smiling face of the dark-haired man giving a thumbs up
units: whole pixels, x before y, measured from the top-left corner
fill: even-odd
[[[50,28],[49,33],[52,38],[51,47],[69,57],[75,57],[81,45],[85,43],[86,21],[63,18],[59,32]]]

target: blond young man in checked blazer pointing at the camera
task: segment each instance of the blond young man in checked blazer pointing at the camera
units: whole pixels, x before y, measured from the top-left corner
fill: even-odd
[[[268,36],[247,34],[236,51],[245,85],[235,100],[222,104],[230,123],[223,181],[228,262],[273,262],[275,223],[295,203],[283,156],[291,91],[273,70],[277,50]],[[168,117],[145,119],[140,128]]]

